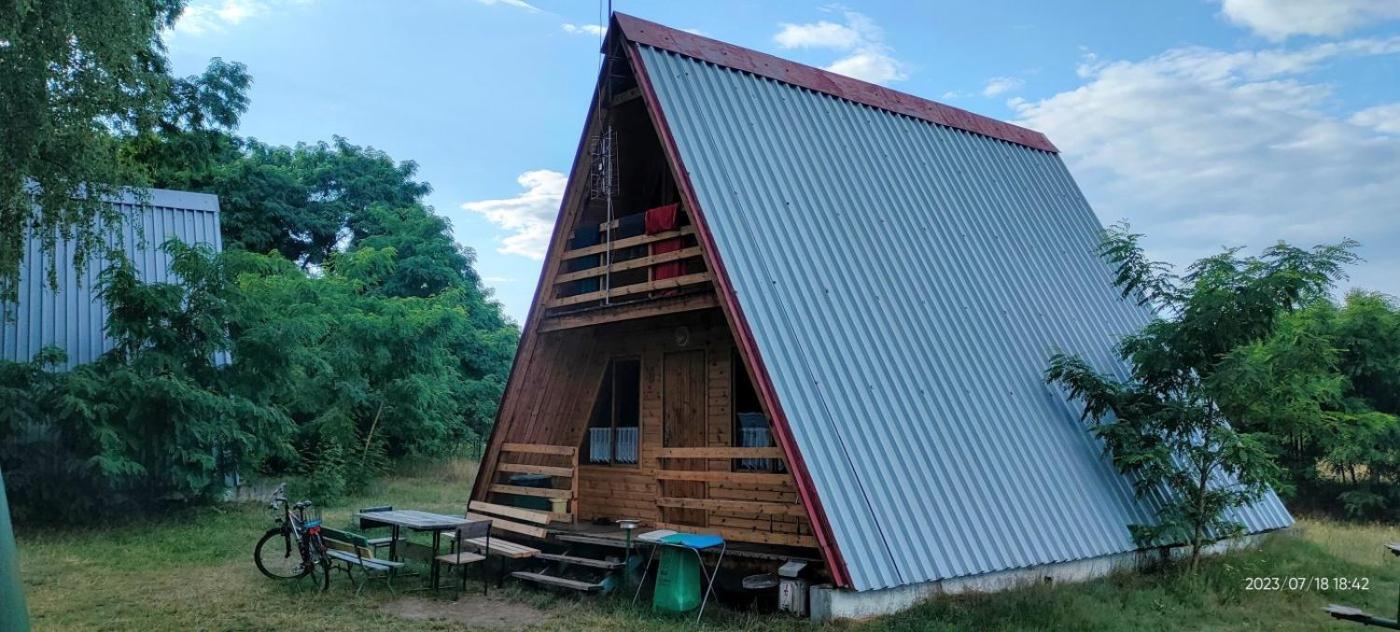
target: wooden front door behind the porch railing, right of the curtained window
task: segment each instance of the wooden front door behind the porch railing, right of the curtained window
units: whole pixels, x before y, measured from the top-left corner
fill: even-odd
[[[704,447],[706,427],[706,366],[704,352],[676,352],[662,356],[661,436],[665,447]],[[706,469],[701,458],[668,458],[666,469]],[[706,483],[700,481],[662,481],[661,495],[666,497],[706,497]],[[706,511],[699,509],[662,507],[666,523],[706,525]]]

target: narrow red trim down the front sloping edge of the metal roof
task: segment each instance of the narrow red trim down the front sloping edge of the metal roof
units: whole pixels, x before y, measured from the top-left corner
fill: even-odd
[[[836,547],[836,535],[832,533],[832,524],[826,518],[826,509],[822,507],[822,499],[816,493],[816,486],[812,483],[812,475],[806,469],[806,462],[802,460],[802,453],[797,447],[797,441],[792,440],[792,430],[788,426],[787,415],[783,412],[783,405],[778,402],[777,390],[773,388],[773,380],[769,378],[769,370],[763,366],[763,357],[759,355],[759,346],[753,341],[753,331],[749,329],[748,320],[743,318],[743,310],[739,308],[739,301],[735,298],[734,284],[729,283],[729,273],[724,268],[724,259],[720,256],[720,248],[714,242],[714,235],[710,234],[710,227],[704,219],[704,210],[700,207],[700,200],[696,196],[694,185],[690,184],[690,172],[686,170],[685,163],[680,160],[680,151],[676,149],[676,139],[671,135],[671,126],[666,123],[666,115],[661,111],[661,101],[657,98],[655,88],[651,85],[651,77],[647,74],[647,66],[641,63],[641,59],[636,55],[634,45],[624,45],[623,50],[627,55],[627,60],[631,64],[633,73],[637,77],[637,85],[641,87],[643,101],[647,105],[648,114],[652,116],[652,123],[657,128],[657,136],[661,139],[662,151],[671,161],[672,168],[676,174],[676,184],[679,185],[680,195],[685,199],[685,205],[690,209],[690,217],[696,224],[696,237],[706,252],[710,254],[710,259],[714,268],[714,283],[715,294],[720,297],[720,305],[729,318],[735,343],[739,346],[739,355],[749,360],[749,366],[753,369],[753,377],[757,384],[759,397],[767,404],[769,411],[773,412],[773,430],[777,434],[777,443],[783,447],[783,454],[787,455],[790,469],[792,471],[792,479],[797,482],[798,496],[802,499],[802,504],[808,509],[808,517],[813,524],[813,534],[816,535],[818,548],[822,551],[822,556],[826,559],[826,566],[832,572],[832,580],[837,587],[850,587],[851,577],[846,569],[846,561],[841,559],[841,551]]]

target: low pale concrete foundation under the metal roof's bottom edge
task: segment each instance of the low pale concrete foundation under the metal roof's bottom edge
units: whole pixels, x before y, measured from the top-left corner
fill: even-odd
[[[1215,542],[1204,552],[1214,555],[1238,548],[1253,547],[1260,535]],[[1170,551],[1173,558],[1187,555],[1184,548]],[[1074,562],[1050,563],[1026,569],[1001,570],[966,577],[949,577],[938,582],[897,586],[881,590],[844,590],[830,584],[813,586],[809,596],[812,621],[868,619],[907,610],[920,601],[963,593],[995,593],[1035,583],[1072,583],[1107,576],[1119,570],[1134,570],[1141,565],[1161,559],[1162,552],[1130,551],[1100,558]]]

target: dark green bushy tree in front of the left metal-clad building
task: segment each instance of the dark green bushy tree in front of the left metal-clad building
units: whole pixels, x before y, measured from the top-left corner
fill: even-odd
[[[221,259],[176,241],[165,249],[176,282],[143,283],[126,261],[102,272],[115,348],[98,362],[60,373],[50,350],[0,363],[0,460],[29,517],[206,500],[223,474],[293,454],[277,406],[224,388],[232,305]]]

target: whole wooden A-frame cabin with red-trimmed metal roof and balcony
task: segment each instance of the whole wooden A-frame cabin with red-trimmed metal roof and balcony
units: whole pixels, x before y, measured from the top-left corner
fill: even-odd
[[[1043,135],[622,14],[603,50],[473,503],[805,556],[832,617],[1141,555],[1043,376],[1151,314]]]

